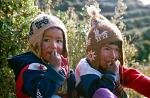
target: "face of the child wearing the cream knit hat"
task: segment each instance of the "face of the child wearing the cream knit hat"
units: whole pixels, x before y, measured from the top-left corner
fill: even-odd
[[[63,32],[58,28],[49,28],[44,32],[41,56],[46,62],[53,62],[54,52],[62,53],[63,40]]]

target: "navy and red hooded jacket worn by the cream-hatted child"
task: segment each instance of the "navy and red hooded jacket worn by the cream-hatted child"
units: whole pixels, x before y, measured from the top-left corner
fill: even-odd
[[[67,59],[61,58],[63,63],[59,72],[32,52],[9,58],[8,63],[16,76],[17,98],[50,98],[55,94],[67,98],[74,89],[75,78],[73,72],[69,72]]]

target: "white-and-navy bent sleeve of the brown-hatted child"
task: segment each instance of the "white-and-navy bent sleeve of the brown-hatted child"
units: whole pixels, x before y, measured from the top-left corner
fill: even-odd
[[[79,95],[92,98],[95,91],[99,88],[108,88],[113,91],[115,88],[116,74],[105,72],[102,74],[90,65],[79,64],[75,70],[76,89]]]

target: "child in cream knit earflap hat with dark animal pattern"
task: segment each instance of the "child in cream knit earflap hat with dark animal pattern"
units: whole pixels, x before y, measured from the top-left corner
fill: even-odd
[[[8,59],[16,76],[17,98],[73,98],[74,76],[67,61],[66,32],[56,16],[42,13],[33,20],[31,51]]]

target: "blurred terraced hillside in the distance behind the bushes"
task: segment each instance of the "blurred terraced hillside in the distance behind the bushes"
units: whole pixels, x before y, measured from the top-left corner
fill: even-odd
[[[66,11],[70,6],[75,8],[79,18],[82,19],[82,8],[92,0],[64,0],[59,3],[55,10]],[[101,8],[101,13],[110,18],[114,15],[114,10],[118,0],[97,0]],[[150,57],[150,6],[144,6],[138,0],[124,0],[127,10],[124,15],[127,37],[134,37],[134,44],[139,50],[137,60],[147,60]]]

